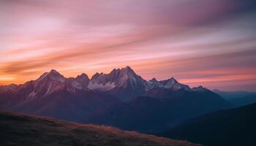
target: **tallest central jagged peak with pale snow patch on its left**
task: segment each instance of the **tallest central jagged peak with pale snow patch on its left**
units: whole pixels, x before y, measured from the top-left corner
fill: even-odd
[[[88,88],[107,91],[122,101],[129,101],[129,99],[144,93],[146,85],[147,81],[127,66],[122,69],[113,69],[109,74],[94,74]]]

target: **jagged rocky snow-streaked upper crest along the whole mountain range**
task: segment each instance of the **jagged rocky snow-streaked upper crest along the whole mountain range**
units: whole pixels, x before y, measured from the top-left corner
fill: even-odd
[[[45,72],[37,80],[31,80],[23,85],[4,85],[0,86],[0,93],[20,92],[28,98],[37,96],[47,96],[56,91],[69,91],[77,93],[78,91],[98,90],[110,91],[118,96],[138,96],[141,93],[150,91],[154,88],[167,88],[172,91],[206,91],[208,89],[199,86],[189,88],[188,85],[181,84],[173,77],[167,80],[144,80],[136,74],[129,66],[121,69],[113,69],[109,74],[96,73],[91,80],[86,74],[80,74],[77,77],[66,78],[56,70]],[[23,92],[26,91],[26,92]]]

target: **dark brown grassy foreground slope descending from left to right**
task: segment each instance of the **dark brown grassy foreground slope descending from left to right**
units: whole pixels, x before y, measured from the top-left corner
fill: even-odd
[[[170,145],[195,144],[50,118],[37,118],[0,112],[0,145]]]

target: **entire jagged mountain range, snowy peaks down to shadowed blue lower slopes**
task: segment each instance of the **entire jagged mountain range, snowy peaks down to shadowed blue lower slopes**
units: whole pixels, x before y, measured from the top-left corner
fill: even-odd
[[[37,80],[0,87],[0,110],[143,132],[163,131],[231,107],[207,88],[190,88],[173,77],[144,80],[129,66],[91,79],[86,74],[67,78],[51,70]]]

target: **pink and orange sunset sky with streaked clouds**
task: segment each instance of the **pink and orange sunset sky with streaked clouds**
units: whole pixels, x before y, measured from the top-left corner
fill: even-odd
[[[131,66],[256,91],[255,0],[0,0],[0,85]]]

